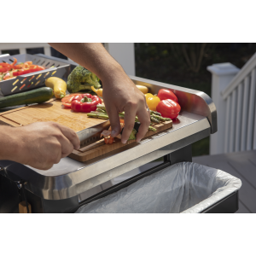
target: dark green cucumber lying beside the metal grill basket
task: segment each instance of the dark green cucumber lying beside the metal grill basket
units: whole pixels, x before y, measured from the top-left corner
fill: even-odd
[[[49,101],[54,96],[53,90],[48,87],[20,92],[15,95],[0,98],[0,108],[8,108],[33,103]]]

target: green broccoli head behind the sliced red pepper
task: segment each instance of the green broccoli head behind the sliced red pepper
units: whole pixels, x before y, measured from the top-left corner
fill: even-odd
[[[91,73],[84,67],[78,66],[73,69],[67,78],[67,90],[70,93],[78,92],[79,90],[91,90],[91,86],[96,89],[101,87],[100,79],[95,73]]]

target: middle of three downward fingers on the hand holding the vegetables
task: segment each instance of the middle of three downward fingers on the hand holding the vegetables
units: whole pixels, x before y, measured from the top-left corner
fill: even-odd
[[[125,128],[122,133],[122,143],[126,143],[131,135],[136,117],[136,105],[128,104],[125,106]]]

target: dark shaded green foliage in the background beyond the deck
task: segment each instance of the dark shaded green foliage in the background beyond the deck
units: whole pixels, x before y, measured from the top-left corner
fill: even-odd
[[[189,61],[196,67],[202,44],[204,43],[135,43],[136,75],[201,90],[211,96],[212,76],[207,71],[207,66],[230,62],[241,68],[256,51],[256,43],[207,43],[202,51],[201,65],[195,72],[189,66],[183,49],[186,49]],[[209,154],[209,144],[209,137],[194,143],[193,156]]]

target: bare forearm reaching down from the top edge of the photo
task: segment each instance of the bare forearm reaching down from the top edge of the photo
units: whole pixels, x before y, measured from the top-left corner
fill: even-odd
[[[89,69],[103,81],[113,77],[115,71],[123,71],[101,43],[49,43],[63,55]]]

